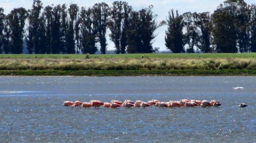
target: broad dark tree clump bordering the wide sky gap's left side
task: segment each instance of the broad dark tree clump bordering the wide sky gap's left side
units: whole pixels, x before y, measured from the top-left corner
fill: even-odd
[[[127,52],[128,53],[152,53],[152,40],[155,38],[154,31],[160,26],[157,25],[156,14],[152,12],[153,6],[148,6],[132,11],[127,30]]]

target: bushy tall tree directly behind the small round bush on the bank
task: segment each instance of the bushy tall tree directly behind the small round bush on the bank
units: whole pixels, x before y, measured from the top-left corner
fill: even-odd
[[[96,37],[97,37],[97,20],[93,14],[93,9],[90,7],[86,10],[84,7],[81,7],[80,12],[80,30],[81,37],[80,43],[82,46],[83,53],[94,54],[98,51],[96,47]]]

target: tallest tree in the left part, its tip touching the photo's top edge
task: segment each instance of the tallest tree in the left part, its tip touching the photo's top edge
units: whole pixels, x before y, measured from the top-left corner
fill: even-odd
[[[43,4],[40,0],[34,0],[32,9],[28,10],[28,52],[31,54],[35,52],[36,54],[40,53],[39,49],[39,16],[41,13],[41,9],[43,8]]]

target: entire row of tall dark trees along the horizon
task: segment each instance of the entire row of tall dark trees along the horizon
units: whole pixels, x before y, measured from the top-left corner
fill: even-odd
[[[213,14],[179,14],[170,10],[166,21],[156,22],[150,5],[134,10],[125,1],[112,6],[96,3],[92,7],[58,4],[43,7],[33,0],[31,9],[23,7],[4,14],[0,7],[0,53],[90,53],[107,49],[107,29],[115,51],[152,53],[155,30],[167,25],[165,45],[173,53],[256,52],[256,6],[243,0],[226,0]]]

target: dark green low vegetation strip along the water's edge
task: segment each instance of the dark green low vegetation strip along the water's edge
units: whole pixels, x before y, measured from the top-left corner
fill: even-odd
[[[87,77],[136,77],[136,76],[256,76],[249,69],[138,69],[138,70],[0,70],[0,76],[87,76]]]

